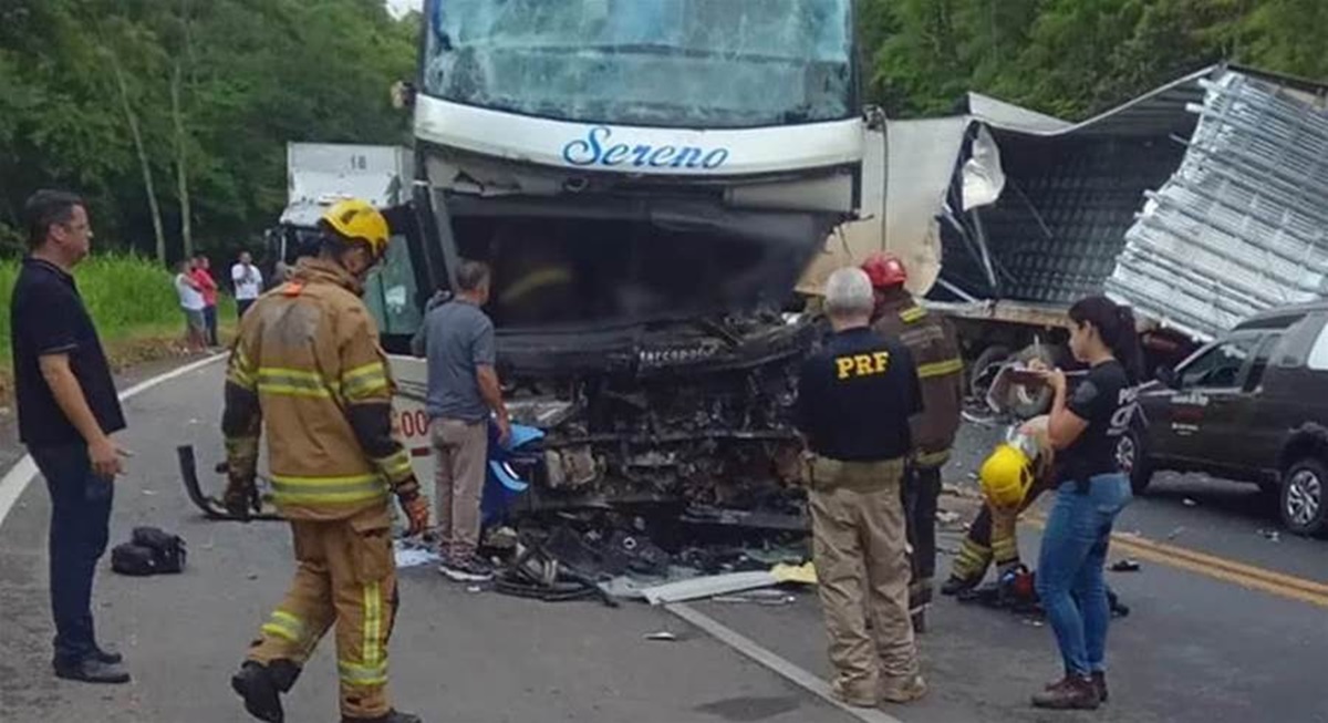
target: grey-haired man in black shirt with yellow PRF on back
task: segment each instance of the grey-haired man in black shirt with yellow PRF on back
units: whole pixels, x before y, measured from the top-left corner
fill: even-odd
[[[899,485],[922,412],[908,348],[871,331],[871,282],[841,268],[826,282],[834,335],[802,365],[795,408],[811,451],[814,557],[845,703],[908,703],[927,692],[908,618],[910,568]],[[867,631],[867,618],[871,631]]]

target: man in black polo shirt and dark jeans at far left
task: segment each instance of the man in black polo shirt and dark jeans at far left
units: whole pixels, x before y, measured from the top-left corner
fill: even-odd
[[[125,428],[97,330],[69,271],[88,255],[92,226],[82,201],[37,191],[24,209],[31,254],[9,306],[19,439],[50,492],[50,606],[56,675],[125,683],[120,655],[98,645],[92,583],[106,552],[110,502],[122,452],[109,435]]]

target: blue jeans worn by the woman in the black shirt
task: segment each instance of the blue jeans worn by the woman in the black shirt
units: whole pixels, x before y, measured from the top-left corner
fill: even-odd
[[[1068,675],[1106,670],[1106,602],[1102,568],[1116,516],[1133,494],[1125,474],[1100,474],[1085,492],[1061,484],[1042,532],[1037,595],[1056,633]]]

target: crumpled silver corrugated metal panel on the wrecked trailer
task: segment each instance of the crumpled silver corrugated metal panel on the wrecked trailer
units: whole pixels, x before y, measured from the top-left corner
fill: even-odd
[[[1328,291],[1328,104],[1228,70],[1126,233],[1109,295],[1201,339]]]

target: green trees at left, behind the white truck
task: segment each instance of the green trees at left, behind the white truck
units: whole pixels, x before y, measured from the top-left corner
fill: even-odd
[[[255,237],[286,203],[287,142],[408,142],[388,89],[417,23],[377,0],[7,0],[0,243],[45,186],[89,198],[100,243]]]

